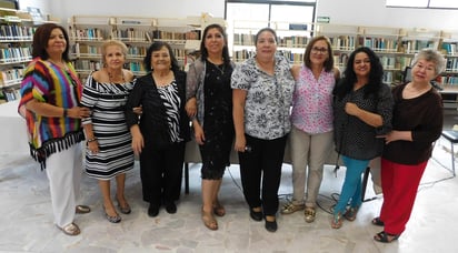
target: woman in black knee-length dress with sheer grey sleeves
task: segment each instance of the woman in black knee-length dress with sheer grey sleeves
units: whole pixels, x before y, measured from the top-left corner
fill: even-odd
[[[217,230],[213,213],[226,214],[218,193],[233,141],[230,88],[233,67],[221,26],[210,24],[203,30],[200,51],[201,58],[190,65],[187,74],[187,111],[202,156],[202,221],[208,229]]]

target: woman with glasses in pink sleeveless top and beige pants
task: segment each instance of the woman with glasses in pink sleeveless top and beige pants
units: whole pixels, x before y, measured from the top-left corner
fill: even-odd
[[[293,193],[281,213],[305,210],[306,222],[313,222],[325,161],[332,149],[332,89],[340,77],[329,40],[313,38],[307,44],[303,64],[293,65],[291,72],[296,80],[289,134]]]

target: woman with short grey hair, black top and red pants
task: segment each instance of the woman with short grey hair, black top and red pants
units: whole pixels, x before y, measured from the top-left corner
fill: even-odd
[[[412,61],[412,81],[392,90],[392,131],[385,138],[381,155],[384,204],[380,216],[372,220],[385,230],[374,236],[376,241],[392,242],[409,221],[432,143],[442,131],[442,100],[430,81],[444,69],[439,52],[422,50]]]

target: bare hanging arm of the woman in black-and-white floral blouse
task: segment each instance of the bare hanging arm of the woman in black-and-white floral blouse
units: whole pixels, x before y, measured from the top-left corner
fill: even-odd
[[[247,91],[233,89],[232,90],[232,117],[233,128],[236,130],[236,143],[233,149],[239,152],[245,152],[247,140],[245,139],[245,102],[247,99]]]

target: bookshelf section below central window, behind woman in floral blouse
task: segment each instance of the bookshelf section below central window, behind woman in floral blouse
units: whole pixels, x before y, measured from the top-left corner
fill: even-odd
[[[255,36],[266,27],[277,32],[277,51],[283,54],[291,64],[302,62],[303,52],[312,34],[312,24],[285,21],[233,21],[229,28],[229,43],[235,62],[241,62],[255,53]],[[231,43],[232,42],[232,43]]]

